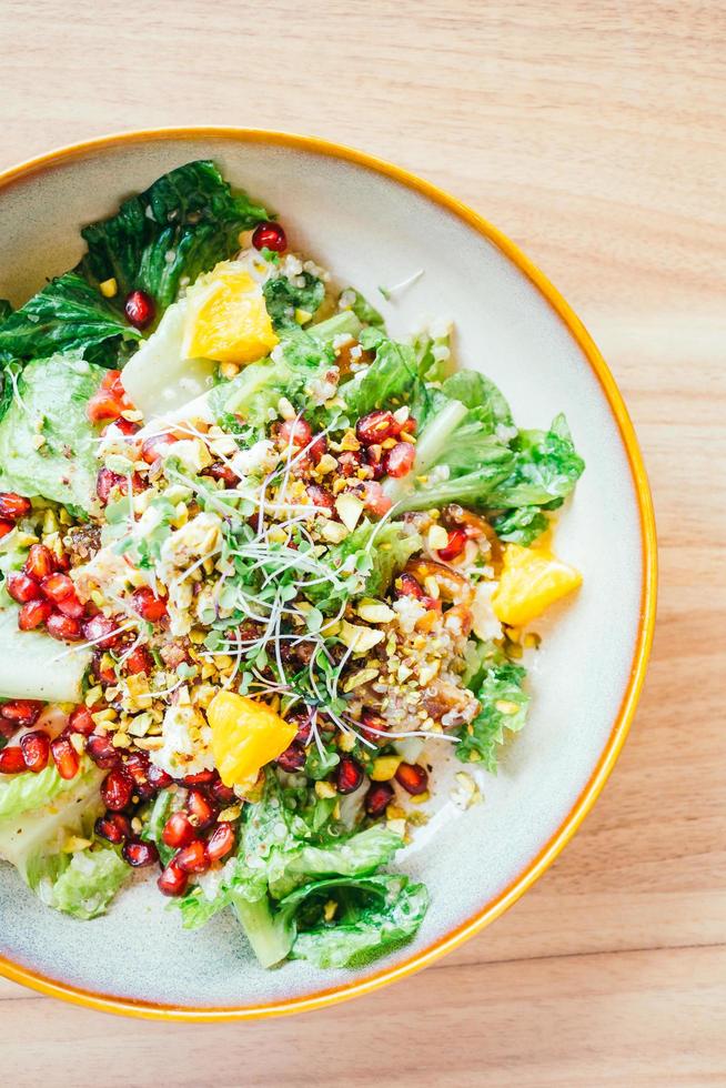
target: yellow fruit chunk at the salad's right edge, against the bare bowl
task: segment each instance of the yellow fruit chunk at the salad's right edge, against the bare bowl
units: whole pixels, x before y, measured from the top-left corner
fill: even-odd
[[[507,544],[502,577],[492,594],[494,615],[510,627],[523,627],[576,590],[582,581],[579,571],[548,548]]]

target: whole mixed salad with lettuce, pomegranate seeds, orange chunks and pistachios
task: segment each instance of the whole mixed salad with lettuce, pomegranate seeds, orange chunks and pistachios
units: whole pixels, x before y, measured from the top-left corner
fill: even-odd
[[[399,852],[525,724],[583,462],[212,162],[81,233],[0,302],[0,858],[73,918],[139,870],[265,967],[361,965],[426,913]]]

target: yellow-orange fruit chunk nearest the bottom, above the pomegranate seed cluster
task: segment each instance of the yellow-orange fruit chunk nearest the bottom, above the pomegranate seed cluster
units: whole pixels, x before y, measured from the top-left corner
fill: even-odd
[[[225,786],[254,783],[260,769],[290,747],[296,727],[264,703],[218,692],[206,708],[212,753]]]

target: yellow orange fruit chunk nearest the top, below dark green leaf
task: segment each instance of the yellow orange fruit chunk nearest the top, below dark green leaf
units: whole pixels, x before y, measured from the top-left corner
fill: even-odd
[[[278,343],[259,283],[235,261],[222,261],[188,294],[183,359],[252,363]]]

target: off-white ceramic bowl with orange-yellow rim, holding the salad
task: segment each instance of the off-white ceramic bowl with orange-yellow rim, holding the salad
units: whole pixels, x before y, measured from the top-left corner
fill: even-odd
[[[483,806],[442,819],[403,867],[431,908],[415,941],[371,967],[263,971],[231,918],[196,934],[151,886],[80,924],[0,870],[0,971],[97,1008],[145,1016],[252,1017],[365,993],[431,963],[510,906],[547,867],[602,788],[629,725],[655,613],[647,481],[621,395],[583,325],[498,231],[432,185],[320,140],[234,129],[124,133],[0,175],[0,298],[21,303],[79,259],[79,228],[191,159],[280,213],[293,248],[380,303],[377,285],[425,274],[381,309],[394,332],[421,315],[455,321],[457,354],[510,399],[521,425],[559,411],[587,469],[557,530],[584,573],[557,611],[532,674],[526,729]],[[438,825],[438,822],[437,822]]]

